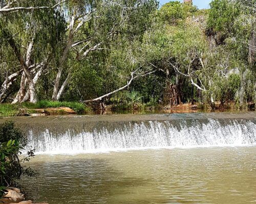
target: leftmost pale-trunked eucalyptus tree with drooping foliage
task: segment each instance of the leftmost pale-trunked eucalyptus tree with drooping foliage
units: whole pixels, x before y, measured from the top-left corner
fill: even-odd
[[[13,55],[19,64],[16,65],[18,70],[6,78],[2,87],[8,88],[9,82],[13,81],[13,77],[18,77],[22,70],[20,88],[13,103],[28,99],[32,103],[37,101],[35,84],[49,62],[52,50],[64,28],[64,25],[61,25],[61,21],[64,22],[63,18],[57,10],[43,9],[28,12],[26,9],[20,9],[28,6],[31,8],[32,5],[39,8],[46,4],[49,4],[49,1],[1,2],[0,28],[2,41],[5,42],[2,46],[13,50]],[[11,6],[15,7],[10,8]]]

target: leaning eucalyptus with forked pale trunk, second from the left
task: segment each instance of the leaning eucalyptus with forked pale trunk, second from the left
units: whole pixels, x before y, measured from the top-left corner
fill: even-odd
[[[111,49],[117,39],[132,40],[146,29],[150,23],[148,17],[156,7],[157,3],[153,0],[98,0],[67,4],[63,12],[66,13],[68,30],[58,62],[52,99],[60,99],[71,79],[73,68],[67,67],[68,74],[59,87],[70,53],[74,61],[82,61],[95,50]]]

